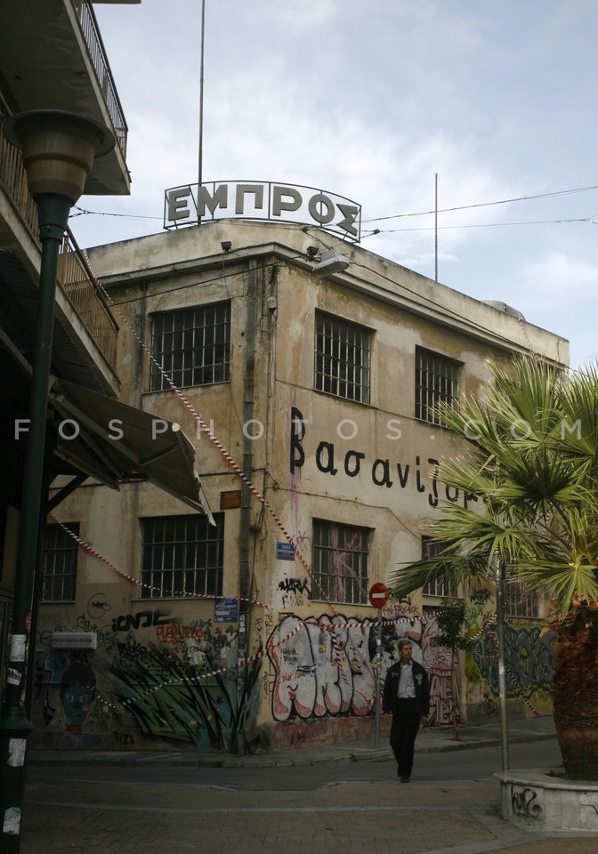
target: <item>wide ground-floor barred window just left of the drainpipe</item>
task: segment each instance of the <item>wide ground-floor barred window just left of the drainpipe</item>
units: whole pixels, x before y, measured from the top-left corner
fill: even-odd
[[[222,596],[224,514],[142,522],[141,599]]]

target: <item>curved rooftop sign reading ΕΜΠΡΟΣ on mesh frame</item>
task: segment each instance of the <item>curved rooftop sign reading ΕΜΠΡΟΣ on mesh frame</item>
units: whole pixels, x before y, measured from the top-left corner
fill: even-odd
[[[165,190],[164,227],[223,219],[296,222],[360,240],[361,205],[313,187],[273,181],[213,181]]]

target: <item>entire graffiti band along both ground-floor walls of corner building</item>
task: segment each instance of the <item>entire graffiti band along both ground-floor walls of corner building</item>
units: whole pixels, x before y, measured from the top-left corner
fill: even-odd
[[[487,703],[490,714],[498,690],[497,636],[486,604],[474,602],[468,609],[466,631],[473,646],[465,656],[465,681],[468,703]],[[64,749],[159,742],[228,751],[238,739],[267,747],[357,737],[374,719],[376,668],[382,687],[404,636],[430,673],[430,724],[451,723],[459,697],[452,696],[449,650],[435,641],[433,611],[421,615],[405,601],[386,606],[382,616],[378,663],[371,618],[325,613],[302,618],[255,608],[253,655],[239,668],[238,624],[189,620],[176,606],[163,604],[115,614],[98,593],[75,624],[54,627],[96,632],[97,649],[53,649],[52,631],[38,633],[37,729],[48,734],[47,744],[52,737],[53,745]],[[549,696],[554,638],[537,624],[507,625],[511,697],[529,704]]]

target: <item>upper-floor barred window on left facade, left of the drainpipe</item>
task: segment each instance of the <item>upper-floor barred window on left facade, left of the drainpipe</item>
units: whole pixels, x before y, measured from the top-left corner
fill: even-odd
[[[230,378],[230,302],[155,314],[151,352],[174,385],[209,385]],[[152,362],[151,391],[170,388]]]

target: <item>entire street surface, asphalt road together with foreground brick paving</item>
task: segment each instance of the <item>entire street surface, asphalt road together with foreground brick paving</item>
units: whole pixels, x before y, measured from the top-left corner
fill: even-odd
[[[513,762],[558,764],[554,739]],[[596,835],[534,833],[497,814],[497,746],[278,768],[32,766],[21,854],[595,854]]]

